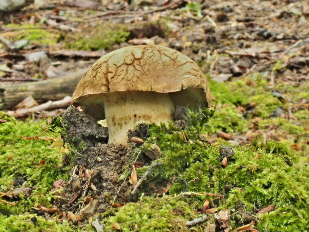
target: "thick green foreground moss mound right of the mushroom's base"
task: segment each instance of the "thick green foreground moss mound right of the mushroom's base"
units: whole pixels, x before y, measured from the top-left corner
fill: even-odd
[[[233,229],[243,226],[235,212],[244,206],[248,213],[258,217],[257,230],[263,231],[267,225],[268,232],[308,231],[309,225],[306,222],[309,221],[309,215],[306,212],[309,211],[309,166],[299,162],[295,152],[286,144],[255,140],[250,146],[234,147],[235,155],[229,159],[227,167],[222,168],[219,154],[222,144],[209,145],[200,140],[198,135],[198,128],[203,121],[201,115],[205,115],[204,120],[207,120],[209,113],[207,110],[202,114],[199,111],[195,118],[190,114],[191,123],[184,131],[164,125],[150,127],[150,138],[144,149],[152,143],[157,144],[162,156],[154,162],[159,161],[162,165],[152,170],[147,183],[159,185],[176,175],[177,180],[169,190],[170,196],[182,192],[200,193],[184,201],[190,206],[196,205],[197,209],[209,199],[210,208],[229,209]],[[138,175],[142,176],[147,168],[137,170]],[[146,186],[145,189],[141,188],[140,193],[148,191]],[[203,193],[218,194],[221,197]],[[156,203],[161,204],[159,199]],[[272,204],[276,205],[274,211],[256,214],[257,210]],[[130,207],[133,207],[128,209],[130,212],[138,212],[140,209],[139,204]],[[116,215],[106,220],[111,220],[110,223],[135,225],[136,214],[128,213],[125,220],[120,217],[126,209],[119,213],[118,219]],[[160,228],[161,231],[171,231],[169,225],[162,225],[164,227]]]

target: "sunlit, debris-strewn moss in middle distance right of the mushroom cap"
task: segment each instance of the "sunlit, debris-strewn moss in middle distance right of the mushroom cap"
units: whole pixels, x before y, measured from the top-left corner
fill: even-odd
[[[263,73],[219,83],[209,80],[217,110],[204,134],[218,131],[232,135],[263,134],[284,141],[297,150],[303,161],[309,159],[309,82],[290,84],[279,80],[270,87]],[[276,109],[282,109],[276,115]],[[269,134],[269,136],[268,136]]]

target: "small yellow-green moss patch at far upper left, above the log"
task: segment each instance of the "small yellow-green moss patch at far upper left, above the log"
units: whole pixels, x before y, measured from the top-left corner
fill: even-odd
[[[40,44],[56,44],[57,43],[57,30],[53,29],[30,29],[34,27],[41,27],[42,24],[7,24],[5,27],[7,28],[25,28],[25,30],[20,30],[20,33],[13,38],[14,41],[20,39],[26,39],[30,41],[30,43],[40,43]]]

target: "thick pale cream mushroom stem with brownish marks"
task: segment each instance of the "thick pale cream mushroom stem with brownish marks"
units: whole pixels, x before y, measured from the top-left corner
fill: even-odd
[[[109,143],[127,144],[128,131],[140,123],[173,121],[175,108],[167,93],[112,92],[104,96]]]

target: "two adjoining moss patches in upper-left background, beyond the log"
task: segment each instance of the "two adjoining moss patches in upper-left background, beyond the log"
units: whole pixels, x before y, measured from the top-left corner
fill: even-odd
[[[87,25],[85,28],[72,31],[61,32],[56,29],[40,29],[43,24],[7,24],[6,28],[24,28],[7,34],[12,41],[26,39],[30,43],[57,45],[63,49],[74,50],[101,50],[108,49],[115,44],[125,42],[130,35],[126,26],[113,23],[98,23],[96,26]],[[31,29],[33,28],[33,29]]]

